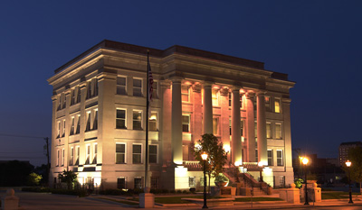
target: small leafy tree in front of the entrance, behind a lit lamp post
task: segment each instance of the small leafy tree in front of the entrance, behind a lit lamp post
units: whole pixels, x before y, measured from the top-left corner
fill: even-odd
[[[205,133],[201,137],[202,139],[197,141],[199,146],[195,148],[195,159],[199,160],[200,164],[204,166],[204,160],[201,158],[201,154],[204,151],[207,153],[205,168],[209,177],[210,187],[211,176],[215,178],[219,173],[224,172],[227,155],[223,148],[223,142],[219,142],[214,134]]]

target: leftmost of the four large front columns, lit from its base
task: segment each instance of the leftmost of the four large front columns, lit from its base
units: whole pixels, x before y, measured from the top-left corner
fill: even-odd
[[[172,78],[172,154],[177,165],[183,163],[182,157],[182,102],[181,78]]]

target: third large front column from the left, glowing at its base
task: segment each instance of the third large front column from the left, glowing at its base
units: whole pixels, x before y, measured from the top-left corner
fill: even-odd
[[[232,162],[243,165],[240,115],[240,87],[233,87],[232,91]],[[237,163],[236,163],[237,162]]]

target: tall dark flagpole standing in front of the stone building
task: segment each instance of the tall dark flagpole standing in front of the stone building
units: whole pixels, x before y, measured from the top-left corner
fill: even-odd
[[[145,193],[149,193],[147,183],[148,183],[148,109],[149,109],[149,50],[148,50],[148,66],[147,66],[147,96],[146,96],[146,157],[145,157]]]

